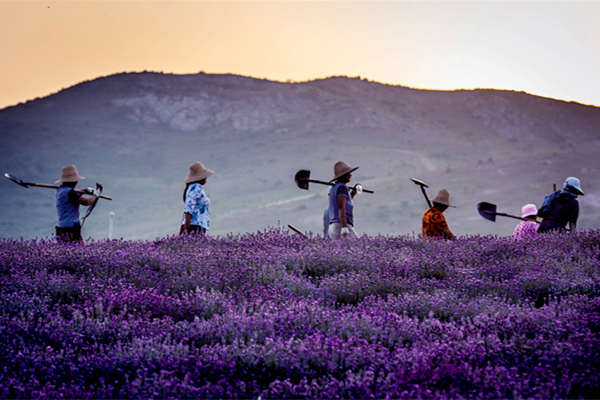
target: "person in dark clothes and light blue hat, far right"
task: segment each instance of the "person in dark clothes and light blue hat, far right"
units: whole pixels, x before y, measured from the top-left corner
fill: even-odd
[[[579,217],[577,196],[583,196],[581,182],[575,177],[565,179],[562,190],[549,194],[538,211],[542,222],[538,232],[563,231],[567,224],[575,232]]]

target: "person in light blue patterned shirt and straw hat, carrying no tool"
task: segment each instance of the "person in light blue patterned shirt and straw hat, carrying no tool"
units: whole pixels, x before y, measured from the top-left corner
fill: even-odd
[[[187,177],[185,178],[185,190],[183,191],[183,220],[179,234],[188,233],[206,233],[210,228],[209,206],[210,200],[204,193],[206,178],[214,174],[204,166],[200,161],[190,165]]]

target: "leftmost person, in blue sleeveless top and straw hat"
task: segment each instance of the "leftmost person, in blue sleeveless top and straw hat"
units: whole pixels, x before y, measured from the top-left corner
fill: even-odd
[[[62,168],[61,177],[55,183],[60,184],[56,190],[56,239],[63,242],[79,242],[81,238],[81,223],[79,221],[79,206],[91,206],[102,193],[102,185],[96,184],[96,189],[89,188],[89,196],[75,191],[77,182],[84,180],[75,165]]]

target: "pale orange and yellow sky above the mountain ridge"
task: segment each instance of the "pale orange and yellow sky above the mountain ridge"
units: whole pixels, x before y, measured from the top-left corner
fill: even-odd
[[[600,105],[600,1],[0,0],[0,108],[122,71],[330,75]]]

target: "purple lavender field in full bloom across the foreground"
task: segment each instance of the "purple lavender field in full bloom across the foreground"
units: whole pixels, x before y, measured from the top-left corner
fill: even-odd
[[[591,398],[600,231],[0,242],[0,398]]]

